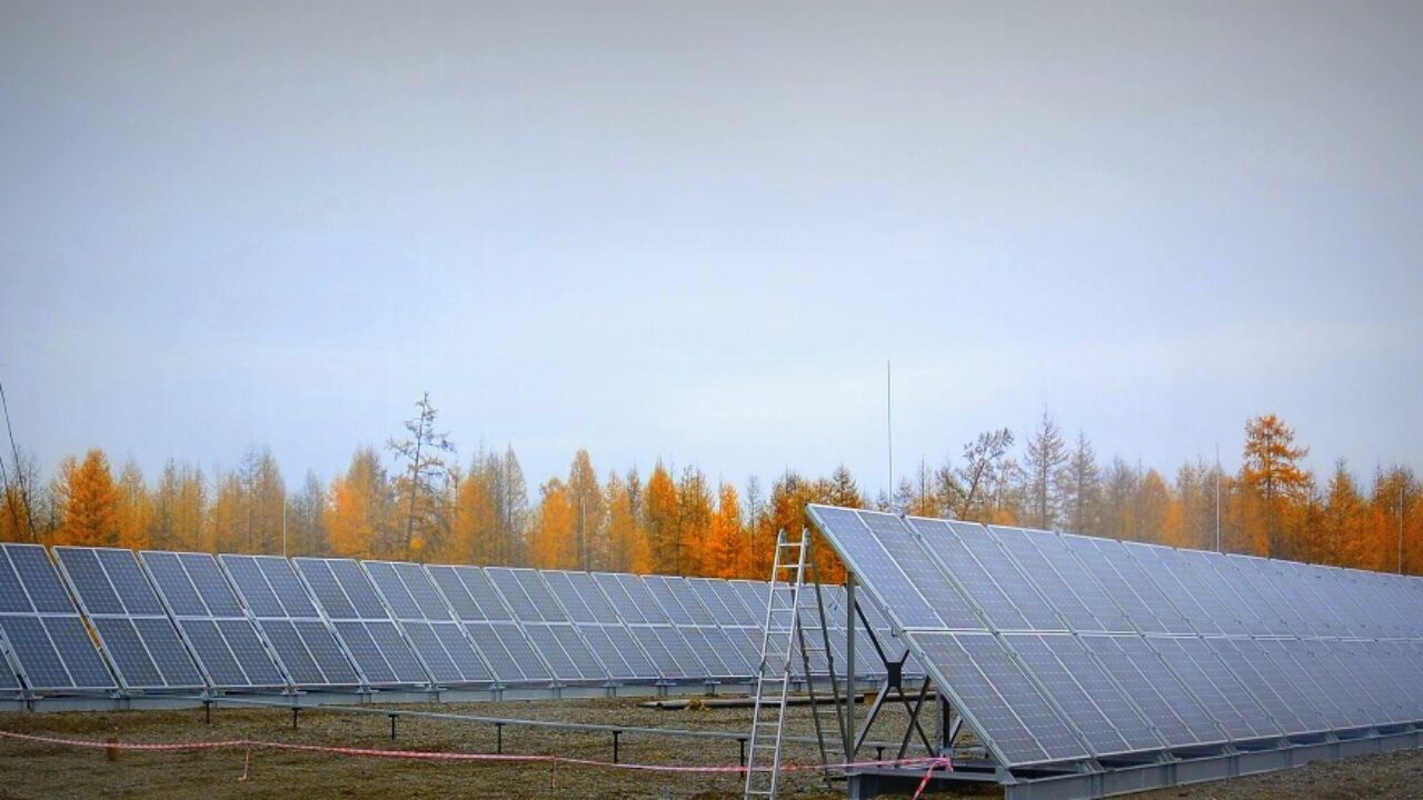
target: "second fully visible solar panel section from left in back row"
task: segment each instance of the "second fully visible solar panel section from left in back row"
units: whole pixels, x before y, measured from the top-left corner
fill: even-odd
[[[212,688],[273,689],[292,683],[212,555],[145,551],[138,557]]]

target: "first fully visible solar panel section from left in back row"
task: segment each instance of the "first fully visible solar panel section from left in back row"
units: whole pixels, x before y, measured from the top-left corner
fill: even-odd
[[[54,557],[125,689],[205,688],[134,551],[57,547]]]

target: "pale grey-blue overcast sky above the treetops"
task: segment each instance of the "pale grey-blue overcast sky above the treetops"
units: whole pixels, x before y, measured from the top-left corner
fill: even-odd
[[[0,380],[46,470],[428,389],[461,457],[896,473],[1043,409],[1423,465],[1423,4],[0,0]]]

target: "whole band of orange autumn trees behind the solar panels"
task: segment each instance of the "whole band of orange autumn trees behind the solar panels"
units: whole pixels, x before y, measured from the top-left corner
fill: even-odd
[[[1022,447],[1009,428],[985,431],[874,498],[845,467],[785,471],[767,488],[662,460],[646,477],[636,467],[601,474],[586,450],[531,495],[512,447],[481,446],[461,464],[435,420],[425,396],[403,438],[360,447],[330,483],[307,474],[296,488],[265,447],[212,473],[171,460],[154,480],[132,460],[115,473],[90,450],[43,485],[34,460],[17,456],[4,473],[0,538],[764,579],[777,532],[798,531],[805,504],[827,502],[1423,574],[1413,471],[1379,467],[1363,484],[1338,461],[1315,475],[1302,464],[1308,448],[1272,414],[1247,423],[1235,474],[1204,460],[1170,477],[1101,460],[1086,434],[1069,440],[1044,414]],[[841,579],[834,554],[815,548],[822,578]]]

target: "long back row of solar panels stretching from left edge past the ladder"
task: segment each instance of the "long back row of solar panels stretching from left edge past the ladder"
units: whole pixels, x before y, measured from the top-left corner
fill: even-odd
[[[73,547],[54,555],[58,574],[41,547],[3,548],[0,690],[21,679],[36,692],[741,682],[758,665],[757,609],[768,596],[766,584],[706,578]],[[840,609],[830,639],[842,673],[844,591],[825,595]],[[869,652],[862,636],[857,646]]]

